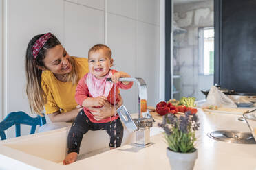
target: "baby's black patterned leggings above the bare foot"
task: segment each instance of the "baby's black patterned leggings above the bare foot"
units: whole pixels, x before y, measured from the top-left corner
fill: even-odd
[[[122,127],[122,123],[119,118],[116,119],[116,122],[92,123],[86,116],[85,112],[81,110],[77,114],[75,121],[72,123],[67,137],[67,153],[76,152],[79,154],[83,134],[88,132],[88,130],[106,130],[107,134],[110,136],[109,147],[120,147],[122,143],[124,128]]]

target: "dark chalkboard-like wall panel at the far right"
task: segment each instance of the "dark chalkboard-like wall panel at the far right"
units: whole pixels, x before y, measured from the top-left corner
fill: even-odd
[[[224,0],[220,5],[222,51],[215,56],[220,64],[219,84],[237,92],[256,93],[256,1]]]

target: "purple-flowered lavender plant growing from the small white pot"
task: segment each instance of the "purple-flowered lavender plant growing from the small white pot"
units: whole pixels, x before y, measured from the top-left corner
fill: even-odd
[[[195,131],[199,128],[197,114],[186,112],[179,118],[175,114],[166,114],[159,127],[164,130],[164,137],[169,149],[175,152],[190,153],[195,151]]]

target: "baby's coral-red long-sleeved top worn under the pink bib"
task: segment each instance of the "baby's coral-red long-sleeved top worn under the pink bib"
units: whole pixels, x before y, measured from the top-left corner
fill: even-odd
[[[116,72],[117,72],[116,70],[111,70],[111,73],[116,73]],[[87,86],[87,82],[89,82],[89,81],[87,81],[87,78],[88,78],[89,74],[90,73],[87,73],[86,75],[84,75],[81,78],[81,80],[79,80],[78,85],[76,87],[76,95],[75,95],[76,103],[81,105],[81,106],[83,104],[83,101],[87,97],[93,97],[92,93],[95,93],[95,90],[100,90],[100,89],[95,89],[95,90],[93,90],[94,92],[92,92],[92,93],[89,91],[89,88]],[[96,81],[94,81],[94,83],[96,84],[96,86],[94,86],[94,88],[101,88],[102,86],[100,86],[99,83],[105,83],[106,84],[106,78],[107,78],[108,75],[106,75],[103,79],[97,79],[96,77],[94,77],[94,80],[96,79]],[[98,84],[98,86],[97,86],[97,84]],[[107,84],[108,84],[108,82],[107,82]],[[116,93],[115,94],[114,94],[114,85],[116,86]],[[111,104],[117,104],[118,101],[120,100],[119,95],[118,95],[118,93],[119,93],[118,89],[119,88],[129,89],[129,88],[131,88],[133,83],[130,82],[129,84],[125,85],[125,84],[122,84],[122,82],[118,82],[114,85],[111,86],[111,90],[103,90],[104,92],[109,91],[109,94],[107,95],[107,100]],[[89,86],[90,86],[90,89],[92,89],[91,84]],[[109,88],[109,86],[105,86],[105,88]],[[102,95],[105,95],[105,94],[102,94]],[[114,101],[115,97],[116,97],[116,101]],[[85,111],[85,114],[87,115],[89,120],[92,121],[93,123],[107,123],[109,121],[113,121],[115,119],[118,119],[118,114],[116,114],[116,116],[107,117],[106,119],[102,119],[100,121],[97,121],[96,119],[94,119],[93,114],[90,112],[90,110],[88,108],[83,107],[83,110]]]

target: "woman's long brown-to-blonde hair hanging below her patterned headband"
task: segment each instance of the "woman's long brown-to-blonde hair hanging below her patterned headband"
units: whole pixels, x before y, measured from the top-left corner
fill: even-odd
[[[61,45],[56,36],[52,35],[52,37],[45,42],[45,45],[43,45],[43,48],[39,51],[36,58],[34,58],[32,55],[32,46],[42,35],[43,34],[34,36],[34,38],[30,40],[25,57],[25,73],[27,77],[26,93],[30,104],[30,110],[32,113],[36,112],[40,115],[42,115],[43,107],[47,103],[47,95],[41,87],[42,70],[39,69],[38,66],[44,66],[43,59],[49,49],[56,45]],[[72,71],[67,75],[67,82],[72,82],[74,85],[78,82],[76,61],[72,57],[70,57],[69,60],[70,64],[72,64]]]

